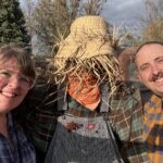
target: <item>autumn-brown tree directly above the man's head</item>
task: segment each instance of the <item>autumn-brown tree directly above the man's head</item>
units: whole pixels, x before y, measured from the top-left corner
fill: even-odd
[[[163,41],[163,3],[162,0],[145,0],[146,16],[142,17],[145,28],[142,30],[143,41]]]

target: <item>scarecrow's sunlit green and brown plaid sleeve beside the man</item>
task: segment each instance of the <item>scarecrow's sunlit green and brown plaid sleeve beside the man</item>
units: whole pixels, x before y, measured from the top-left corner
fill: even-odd
[[[131,82],[122,85],[110,102],[109,121],[120,140],[120,151],[126,162],[148,163],[142,140],[142,103],[139,84]]]

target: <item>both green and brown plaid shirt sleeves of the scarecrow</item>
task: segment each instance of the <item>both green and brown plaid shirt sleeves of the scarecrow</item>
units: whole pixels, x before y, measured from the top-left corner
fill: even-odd
[[[123,87],[125,91],[110,99],[110,109],[105,116],[112,123],[125,163],[148,162],[141,140],[142,108],[138,86],[127,84]],[[105,95],[102,97],[105,98]],[[58,110],[61,103],[63,100],[58,99],[57,87],[45,85],[34,88],[21,109],[17,109],[17,115],[21,115],[20,120],[32,136],[36,151],[39,152],[38,158],[42,156],[39,163],[43,162],[58,116],[62,114],[62,111]]]

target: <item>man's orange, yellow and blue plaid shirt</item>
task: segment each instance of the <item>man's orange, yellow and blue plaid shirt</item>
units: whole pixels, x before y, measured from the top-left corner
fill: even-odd
[[[143,139],[151,163],[163,161],[163,106],[162,99],[153,95],[145,104]]]

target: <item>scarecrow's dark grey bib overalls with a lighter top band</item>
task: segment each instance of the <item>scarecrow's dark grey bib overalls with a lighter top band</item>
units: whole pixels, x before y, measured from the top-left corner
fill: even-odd
[[[123,162],[110,123],[104,120],[109,111],[108,86],[100,85],[99,90],[100,102],[93,111],[75,100],[71,91],[66,100],[59,100],[59,110],[66,112],[58,120],[46,163]]]

